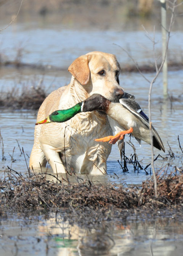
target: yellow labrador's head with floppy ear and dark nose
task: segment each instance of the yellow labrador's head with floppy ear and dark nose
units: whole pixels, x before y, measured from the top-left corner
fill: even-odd
[[[120,65],[113,54],[89,52],[74,60],[68,71],[89,96],[98,93],[108,100],[118,102],[124,95],[124,90],[119,86]]]

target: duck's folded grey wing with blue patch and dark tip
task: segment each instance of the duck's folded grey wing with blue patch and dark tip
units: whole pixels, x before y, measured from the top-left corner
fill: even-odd
[[[145,125],[149,129],[149,118],[143,112],[140,105],[137,102],[135,102],[135,100],[120,99],[119,102],[120,104],[123,105],[123,107],[128,109],[133,115],[135,115],[136,118],[138,118],[138,120],[140,120],[140,122],[143,123],[143,125]],[[159,134],[157,133],[157,131],[153,126],[151,126],[151,128],[152,128],[152,134],[153,134],[154,147],[156,147],[159,150],[162,149],[162,151],[165,152],[165,148]]]

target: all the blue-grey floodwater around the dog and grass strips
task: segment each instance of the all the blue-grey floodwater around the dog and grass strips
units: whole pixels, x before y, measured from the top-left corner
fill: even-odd
[[[106,12],[110,13],[109,6],[105,8]],[[80,14],[79,10],[77,11]],[[153,63],[152,43],[146,37],[141,24],[146,25],[151,36],[153,27],[156,25],[156,50],[159,55],[161,53],[159,19],[124,19],[124,17],[120,18],[120,10],[122,9],[118,10],[115,18],[116,12],[111,9],[113,23],[110,23],[111,19],[107,22],[103,10],[105,24],[104,21],[102,23],[101,18],[94,20],[95,17],[93,18],[92,14],[90,17],[87,16],[86,22],[83,22],[86,17],[81,15],[77,24],[73,18],[75,14],[71,15],[70,19],[67,17],[66,20],[61,19],[59,15],[39,16],[35,19],[30,17],[23,19],[20,16],[0,34],[0,57],[1,61],[18,60],[30,66],[0,67],[1,96],[7,95],[8,91],[11,94],[12,90],[17,96],[22,91],[37,86],[43,88],[48,94],[58,87],[69,84],[71,74],[67,71],[68,66],[75,58],[93,50],[116,54],[121,66],[132,65],[132,60],[120,48],[122,47],[140,65],[151,65]],[[62,18],[65,17],[63,13],[62,15]],[[1,28],[6,25],[5,22],[6,19],[0,21]],[[183,30],[178,17],[170,38],[169,61],[182,61],[182,42]],[[40,66],[42,68],[39,68]],[[150,80],[155,76],[154,73],[144,75]],[[165,146],[165,153],[154,150],[155,157],[161,154],[155,162],[155,168],[159,170],[167,165],[168,172],[171,172],[175,171],[175,167],[180,168],[183,165],[183,154],[177,139],[179,135],[183,148],[183,70],[170,70],[168,83],[170,99],[165,102],[162,96],[162,74],[153,85],[152,124]],[[126,92],[135,95],[136,101],[148,114],[149,84],[147,81],[139,73],[121,73],[120,86]],[[16,172],[27,173],[26,161],[29,162],[34,142],[36,115],[35,110],[15,110],[13,106],[0,109],[1,177],[7,166]],[[125,141],[128,141],[128,136],[125,137]],[[135,145],[140,164],[143,168],[146,167],[151,162],[150,146],[142,143],[140,147],[135,139],[132,139],[132,143]],[[126,156],[132,156],[132,147],[127,143],[125,145]],[[169,146],[174,157],[170,157]],[[141,185],[142,181],[151,175],[151,166],[146,169],[147,174],[144,170],[134,170],[130,163],[127,163],[128,172],[122,172],[118,160],[120,161],[119,151],[117,146],[113,145],[107,162],[108,175],[103,177],[88,175],[88,178],[102,185],[111,183]],[[52,173],[50,168],[48,173]],[[61,176],[63,175],[59,175]],[[85,175],[79,177],[86,178]],[[75,179],[74,177],[73,182]],[[149,215],[145,213],[128,215],[127,212],[125,216],[117,217],[115,221],[110,218],[110,221],[104,219],[98,223],[98,226],[80,225],[79,220],[78,223],[73,223],[72,220],[66,220],[65,215],[63,212],[58,219],[55,215],[45,219],[42,215],[27,217],[26,214],[24,216],[11,213],[8,218],[0,217],[2,255],[182,255],[183,222],[182,216],[176,210],[154,210]]]

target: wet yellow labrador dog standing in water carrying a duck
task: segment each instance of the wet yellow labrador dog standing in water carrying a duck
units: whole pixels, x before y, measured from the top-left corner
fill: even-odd
[[[82,55],[69,66],[71,83],[60,87],[42,103],[37,121],[58,109],[68,109],[94,93],[117,102],[124,90],[119,86],[120,65],[116,56],[103,52]],[[75,172],[101,175],[106,173],[106,161],[111,152],[108,143],[93,139],[112,135],[108,117],[102,112],[79,113],[64,123],[35,126],[34,146],[30,167],[45,167],[47,161],[53,172]]]

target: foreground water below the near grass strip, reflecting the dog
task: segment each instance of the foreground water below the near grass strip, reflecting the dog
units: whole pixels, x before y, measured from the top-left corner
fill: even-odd
[[[167,217],[156,219],[161,214]],[[128,221],[103,222],[97,228],[69,225],[60,217],[26,221],[10,218],[0,223],[0,248],[6,256],[16,255],[16,251],[19,256],[182,255],[182,220],[171,212],[148,217],[136,221],[138,217],[133,215]]]

